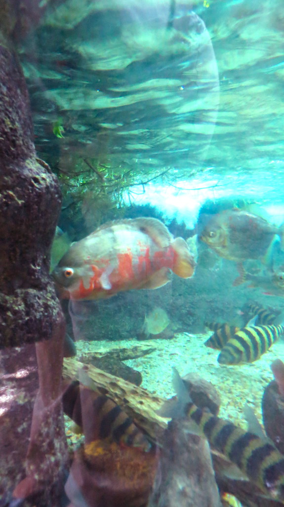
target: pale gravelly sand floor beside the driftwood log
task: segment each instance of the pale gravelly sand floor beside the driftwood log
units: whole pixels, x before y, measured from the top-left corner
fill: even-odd
[[[247,428],[243,408],[248,403],[260,422],[261,398],[265,386],[273,379],[270,365],[277,357],[284,361],[284,342],[272,345],[260,359],[252,364],[239,366],[220,366],[217,363],[218,350],[204,345],[212,334],[192,335],[176,334],[171,340],[123,340],[76,342],[77,355],[87,351],[103,352],[112,348],[131,348],[134,345],[155,347],[155,352],[138,359],[124,361],[126,365],[141,372],[141,387],[162,397],[172,396],[172,367],[176,367],[180,375],[196,372],[204,379],[212,382],[221,397],[220,417]]]

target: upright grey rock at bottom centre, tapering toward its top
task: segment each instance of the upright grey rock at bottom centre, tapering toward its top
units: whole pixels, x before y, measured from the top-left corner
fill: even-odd
[[[207,441],[173,420],[161,444],[160,471],[148,507],[221,507]]]

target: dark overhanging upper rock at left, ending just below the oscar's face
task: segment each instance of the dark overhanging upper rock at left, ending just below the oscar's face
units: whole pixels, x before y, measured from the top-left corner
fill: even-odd
[[[50,339],[58,318],[48,256],[61,192],[37,160],[25,80],[0,35],[0,348]]]

